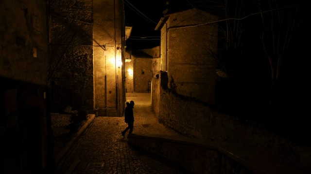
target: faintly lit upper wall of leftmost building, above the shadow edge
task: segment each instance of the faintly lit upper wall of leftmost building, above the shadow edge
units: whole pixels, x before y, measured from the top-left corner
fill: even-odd
[[[48,68],[45,1],[1,0],[0,76],[46,85]]]

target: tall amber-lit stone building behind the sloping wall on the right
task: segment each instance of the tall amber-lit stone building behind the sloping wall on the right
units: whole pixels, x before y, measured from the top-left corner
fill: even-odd
[[[214,104],[217,16],[199,9],[166,13],[156,30],[161,30],[161,71],[167,72],[178,93]]]

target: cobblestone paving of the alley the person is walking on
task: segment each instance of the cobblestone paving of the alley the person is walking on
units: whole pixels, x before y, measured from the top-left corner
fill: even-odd
[[[133,133],[180,136],[158,123],[151,112],[150,93],[127,93],[126,99],[135,102]],[[80,137],[77,141],[56,143],[63,148],[57,148],[55,174],[185,174],[172,163],[129,145],[128,132],[121,135],[127,126],[124,117],[93,116],[87,121],[85,131],[75,135]]]

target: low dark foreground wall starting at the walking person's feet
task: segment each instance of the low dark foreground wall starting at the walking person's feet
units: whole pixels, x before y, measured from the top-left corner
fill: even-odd
[[[128,142],[191,174],[265,174],[245,161],[236,160],[231,153],[217,146],[136,134],[129,135]]]

